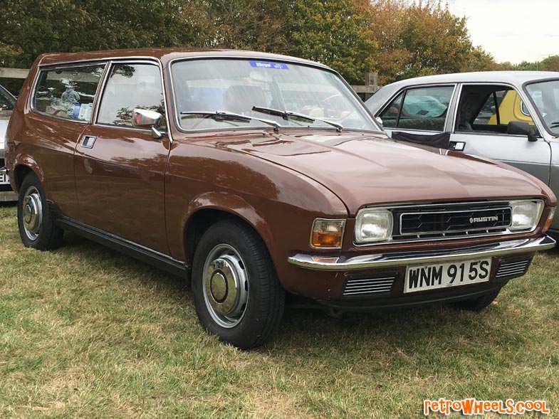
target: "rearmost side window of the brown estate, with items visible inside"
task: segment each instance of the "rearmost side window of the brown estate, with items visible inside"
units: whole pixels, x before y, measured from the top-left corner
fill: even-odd
[[[42,70],[33,95],[33,110],[68,120],[89,121],[104,68],[102,64]]]

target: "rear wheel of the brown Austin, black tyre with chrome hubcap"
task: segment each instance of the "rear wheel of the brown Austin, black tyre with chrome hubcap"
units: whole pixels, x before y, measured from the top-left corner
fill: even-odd
[[[62,244],[64,230],[56,226],[45,193],[36,174],[21,182],[18,199],[18,228],[23,245],[37,250],[53,250]]]

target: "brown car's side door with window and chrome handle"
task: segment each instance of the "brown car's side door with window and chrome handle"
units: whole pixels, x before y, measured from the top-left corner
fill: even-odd
[[[95,123],[75,149],[80,221],[168,254],[164,171],[169,137],[132,127],[135,108],[164,114],[160,65],[115,62],[105,80]]]

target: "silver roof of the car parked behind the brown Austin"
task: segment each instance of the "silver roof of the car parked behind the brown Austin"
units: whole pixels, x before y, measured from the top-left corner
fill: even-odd
[[[451,73],[439,75],[426,75],[424,77],[408,78],[390,85],[385,85],[375,95],[367,100],[367,106],[375,113],[392,97],[395,92],[403,87],[420,85],[437,85],[446,83],[508,83],[520,88],[524,83],[533,80],[559,78],[555,71],[478,71],[474,73]]]

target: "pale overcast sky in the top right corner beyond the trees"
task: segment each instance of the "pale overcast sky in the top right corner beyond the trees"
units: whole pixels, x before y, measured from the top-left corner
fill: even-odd
[[[447,0],[466,16],[474,46],[498,62],[540,61],[559,55],[559,0]]]

